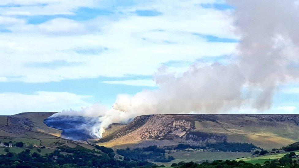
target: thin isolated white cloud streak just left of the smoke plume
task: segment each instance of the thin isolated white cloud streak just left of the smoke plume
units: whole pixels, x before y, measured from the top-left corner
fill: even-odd
[[[107,80],[102,81],[105,84],[124,84],[130,86],[152,86],[157,87],[158,85],[152,79],[139,79],[139,80]]]

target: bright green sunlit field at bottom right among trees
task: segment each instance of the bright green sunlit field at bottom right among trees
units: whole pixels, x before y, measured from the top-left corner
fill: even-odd
[[[260,163],[263,164],[264,162],[266,162],[267,160],[273,160],[273,159],[280,159],[282,158],[284,155],[289,154],[290,152],[285,152],[285,153],[279,153],[279,154],[275,154],[275,155],[263,155],[263,156],[255,156],[255,157],[248,157],[248,158],[241,158],[241,159],[236,159],[236,161],[244,161],[244,162],[248,162],[248,163]],[[299,154],[299,151],[295,152],[296,155]]]

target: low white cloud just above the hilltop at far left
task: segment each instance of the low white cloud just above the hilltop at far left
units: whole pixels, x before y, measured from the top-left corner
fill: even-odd
[[[1,115],[20,112],[58,112],[61,109],[81,109],[90,106],[89,95],[76,95],[68,92],[37,91],[34,94],[0,93]]]

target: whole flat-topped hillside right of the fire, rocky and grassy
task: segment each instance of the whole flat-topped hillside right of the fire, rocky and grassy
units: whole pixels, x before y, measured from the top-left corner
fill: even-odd
[[[134,118],[97,141],[108,147],[247,142],[265,149],[299,141],[299,115],[155,114]]]

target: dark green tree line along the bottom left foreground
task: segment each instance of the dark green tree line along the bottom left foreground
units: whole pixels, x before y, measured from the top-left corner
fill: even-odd
[[[103,152],[89,150],[84,147],[77,146],[75,148],[61,146],[50,154],[40,155],[31,152],[29,149],[19,154],[7,152],[6,155],[0,155],[0,168],[59,168],[59,167],[158,167],[157,165],[139,160],[123,160],[115,158],[110,148],[100,147]],[[64,151],[70,154],[62,155]],[[112,150],[113,151],[113,150]],[[57,159],[53,159],[57,156]]]

